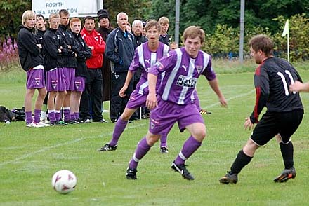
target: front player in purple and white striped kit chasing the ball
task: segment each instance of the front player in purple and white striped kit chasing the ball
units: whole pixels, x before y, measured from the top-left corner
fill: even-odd
[[[161,135],[167,134],[171,130],[171,125],[176,122],[180,132],[187,129],[191,135],[183,144],[183,149],[173,161],[171,168],[185,179],[194,179],[185,167],[185,160],[201,146],[206,137],[204,119],[199,114],[196,105],[192,104],[193,92],[200,75],[206,76],[209,85],[218,95],[221,105],[227,106],[218,86],[216,74],[211,67],[211,57],[200,50],[204,36],[205,33],[200,27],[188,27],[183,33],[185,46],[171,51],[150,69],[148,73],[149,95],[146,100],[146,106],[152,109],[149,130],[146,136],[138,142],[126,170],[127,179],[136,179],[138,162]],[[156,84],[159,81],[157,76],[164,71],[162,84],[156,92]]]

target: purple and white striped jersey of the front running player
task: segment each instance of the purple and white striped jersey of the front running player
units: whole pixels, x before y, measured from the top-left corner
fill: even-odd
[[[176,104],[192,104],[193,91],[201,74],[208,81],[216,78],[211,67],[211,56],[199,50],[195,59],[185,51],[185,47],[172,50],[150,69],[151,74],[159,75],[165,71],[162,84],[157,93],[163,100]]]

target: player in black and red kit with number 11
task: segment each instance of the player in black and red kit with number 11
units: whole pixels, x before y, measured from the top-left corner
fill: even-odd
[[[220,182],[236,184],[237,174],[250,163],[256,149],[273,137],[280,142],[284,161],[284,170],[274,181],[284,182],[296,177],[291,135],[303,119],[303,104],[298,93],[289,92],[289,85],[294,81],[301,81],[301,77],[289,62],[272,56],[273,42],[268,36],[254,36],[249,46],[251,56],[259,66],[254,75],[256,104],[251,116],[246,118],[244,128],[251,129],[255,123],[257,125],[246,145],[237,154],[230,172],[225,174]],[[267,111],[258,121],[258,115],[264,107]]]

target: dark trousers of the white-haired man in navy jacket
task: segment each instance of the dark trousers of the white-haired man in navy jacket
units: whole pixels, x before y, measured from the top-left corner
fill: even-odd
[[[114,72],[111,76],[112,78],[112,88],[110,97],[110,120],[112,122],[117,121],[124,108],[126,108],[126,103],[128,103],[131,93],[133,92],[133,80],[129,83],[128,89],[126,90],[126,97],[122,98],[119,96],[119,91],[124,86],[126,81],[127,72]]]

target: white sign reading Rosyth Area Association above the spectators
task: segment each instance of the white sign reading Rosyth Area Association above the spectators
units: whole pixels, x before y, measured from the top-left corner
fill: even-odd
[[[32,11],[44,18],[63,8],[70,13],[70,18],[96,16],[97,11],[103,8],[103,0],[32,0]]]

